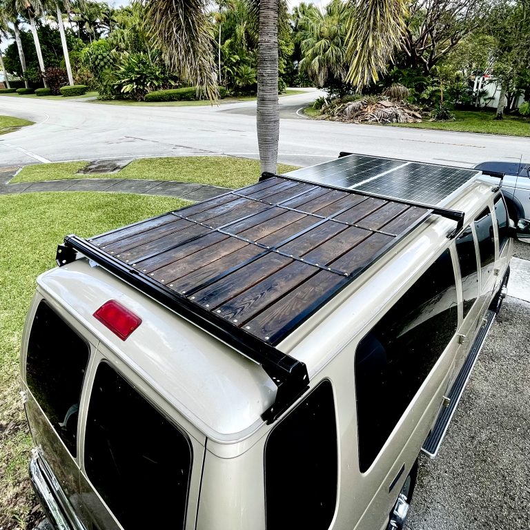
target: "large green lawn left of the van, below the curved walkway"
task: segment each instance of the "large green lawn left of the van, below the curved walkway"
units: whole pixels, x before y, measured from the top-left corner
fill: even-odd
[[[35,526],[28,479],[30,440],[19,400],[24,318],[39,273],[55,266],[63,236],[95,235],[189,204],[115,193],[30,193],[0,197],[0,528]]]

